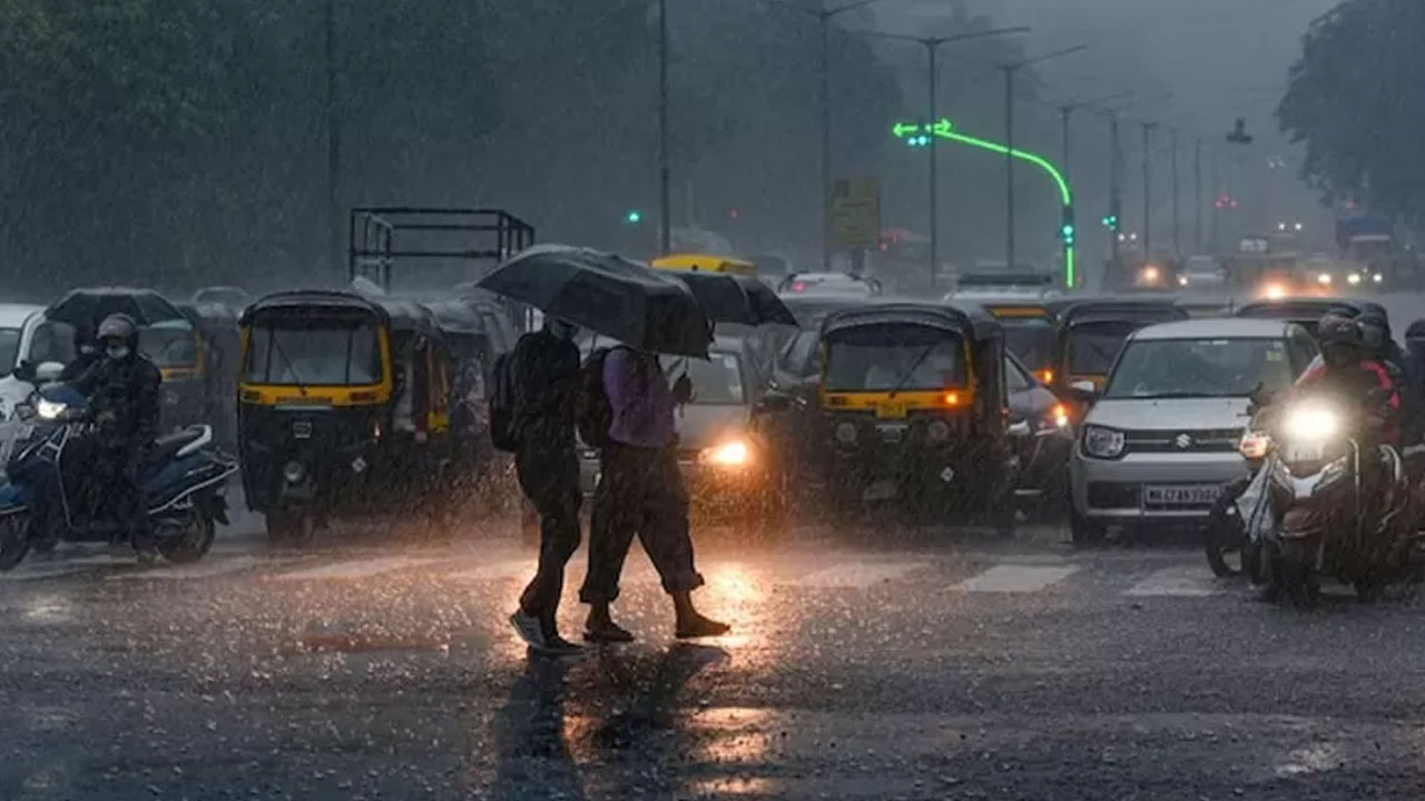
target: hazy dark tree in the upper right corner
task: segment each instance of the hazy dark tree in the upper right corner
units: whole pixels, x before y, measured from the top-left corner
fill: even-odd
[[[1277,108],[1305,145],[1302,177],[1324,200],[1425,224],[1425,4],[1348,0],[1317,20]]]

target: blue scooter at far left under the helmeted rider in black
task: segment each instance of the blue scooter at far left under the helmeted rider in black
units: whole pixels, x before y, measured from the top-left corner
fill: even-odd
[[[0,570],[60,540],[128,542],[130,532],[105,513],[105,487],[84,469],[97,429],[84,396],[63,383],[44,386],[27,425],[33,430],[16,445],[0,485]],[[164,436],[145,452],[140,483],[164,559],[184,564],[208,553],[215,523],[228,523],[225,485],[237,470],[212,448],[207,425]]]

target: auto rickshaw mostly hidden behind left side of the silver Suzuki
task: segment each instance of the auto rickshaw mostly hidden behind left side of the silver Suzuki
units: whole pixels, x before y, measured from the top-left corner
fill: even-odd
[[[1171,299],[1093,299],[1064,306],[1056,331],[1057,375],[1050,386],[1060,398],[1073,396],[1074,385],[1086,382],[1094,392],[1102,391],[1129,334],[1188,316],[1187,309]]]

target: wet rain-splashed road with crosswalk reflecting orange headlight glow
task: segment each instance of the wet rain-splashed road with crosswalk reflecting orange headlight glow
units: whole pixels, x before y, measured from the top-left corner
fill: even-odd
[[[1054,529],[700,544],[731,636],[527,658],[507,530],[0,577],[0,798],[1406,798],[1425,609],[1304,614]],[[571,569],[563,624],[579,631]]]

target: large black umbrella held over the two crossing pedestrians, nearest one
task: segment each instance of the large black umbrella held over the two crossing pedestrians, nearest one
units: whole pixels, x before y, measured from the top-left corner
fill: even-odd
[[[536,245],[476,286],[641,351],[705,358],[712,342],[685,285],[614,254]]]

